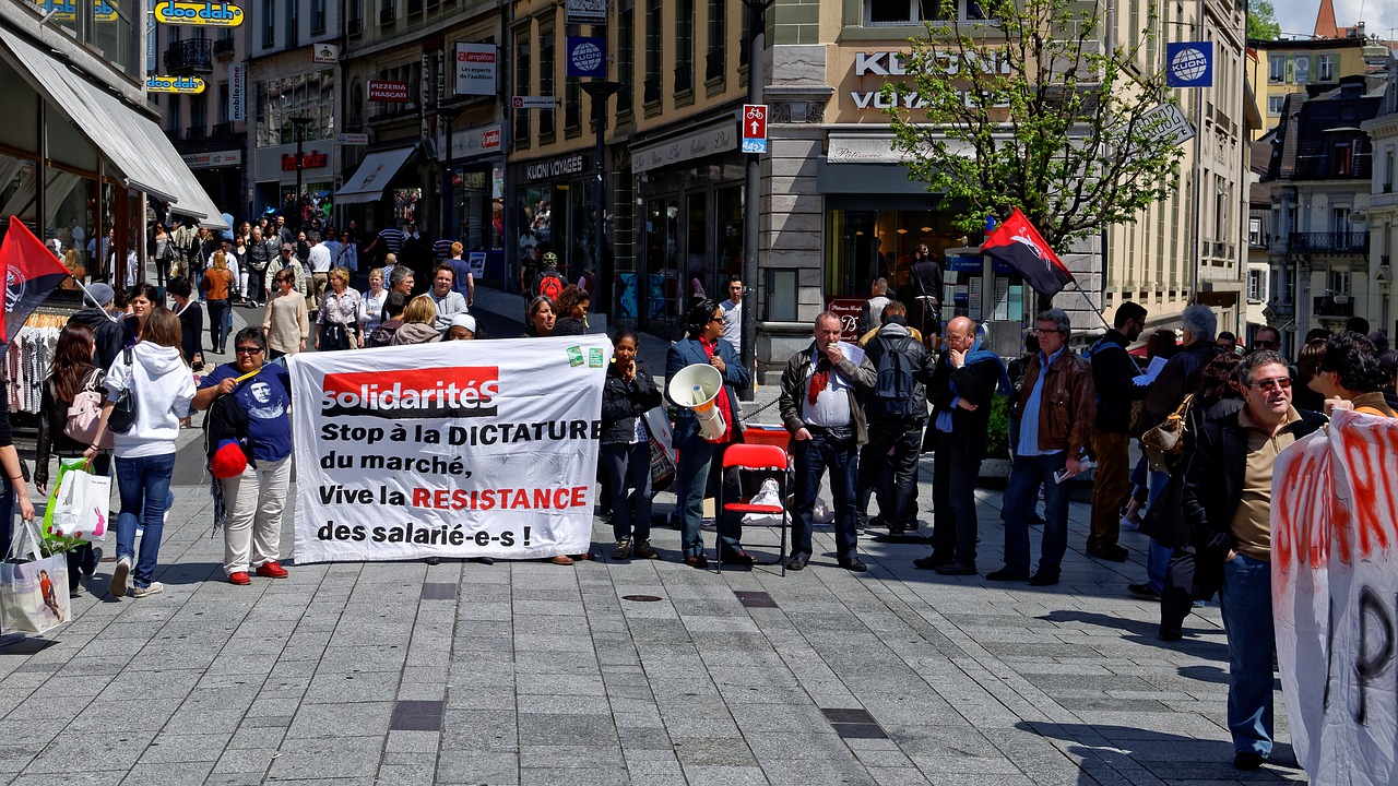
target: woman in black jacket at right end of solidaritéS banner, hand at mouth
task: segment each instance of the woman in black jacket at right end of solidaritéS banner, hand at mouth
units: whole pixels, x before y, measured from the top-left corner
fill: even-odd
[[[614,559],[632,554],[644,559],[658,555],[650,547],[650,431],[646,411],[661,404],[646,366],[636,359],[640,337],[635,330],[617,333],[617,350],[603,387],[603,467],[612,501]]]

